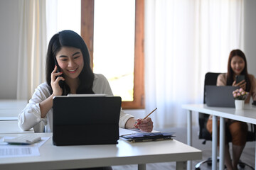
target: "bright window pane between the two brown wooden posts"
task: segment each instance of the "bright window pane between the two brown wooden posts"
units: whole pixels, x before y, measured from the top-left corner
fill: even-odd
[[[134,99],[134,28],[135,0],[95,1],[93,72],[103,73],[122,101]]]

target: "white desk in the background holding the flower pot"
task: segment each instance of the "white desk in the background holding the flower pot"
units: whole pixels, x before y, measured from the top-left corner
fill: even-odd
[[[213,142],[212,142],[212,169],[217,169],[217,116],[220,117],[220,169],[224,169],[224,153],[225,153],[225,120],[224,118],[239,120],[246,123],[256,124],[256,107],[249,104],[245,105],[245,109],[238,111],[235,108],[218,108],[208,107],[206,104],[190,104],[183,105],[182,108],[188,110],[188,145],[192,146],[192,111],[213,115]],[[255,147],[256,148],[256,147]],[[255,149],[256,154],[256,149]],[[255,157],[256,167],[256,157]]]

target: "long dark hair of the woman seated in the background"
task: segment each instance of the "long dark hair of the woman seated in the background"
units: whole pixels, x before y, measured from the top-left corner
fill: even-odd
[[[232,50],[230,52],[230,56],[228,57],[228,77],[227,77],[227,85],[232,86],[233,81],[234,81],[234,71],[231,68],[231,60],[233,57],[235,56],[239,56],[242,58],[242,60],[245,61],[245,68],[242,70],[241,74],[245,75],[245,81],[246,81],[246,89],[245,91],[250,91],[250,79],[249,79],[249,75],[247,72],[247,62],[246,62],[246,58],[245,58],[245,53],[243,53],[241,50],[237,49],[237,50]]]

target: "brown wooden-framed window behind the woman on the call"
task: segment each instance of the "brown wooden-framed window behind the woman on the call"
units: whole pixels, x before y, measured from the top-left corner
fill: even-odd
[[[107,3],[104,6],[107,6],[107,5],[112,6],[111,4],[112,1],[103,1],[103,2]],[[144,0],[136,0],[134,2],[135,6],[133,11],[134,12],[133,17],[124,19],[124,21],[127,20],[127,22],[128,21],[130,22],[130,23],[127,23],[127,27],[132,25],[131,22],[134,22],[133,26],[131,27],[135,28],[134,35],[132,35],[134,36],[134,38],[128,38],[128,37],[123,38],[124,40],[129,41],[129,45],[127,45],[127,47],[130,47],[130,46],[134,47],[128,50],[126,49],[127,51],[129,51],[126,53],[127,54],[126,59],[129,57],[130,58],[128,60],[124,60],[125,63],[122,60],[120,62],[118,60],[119,53],[125,49],[122,48],[122,50],[119,51],[119,48],[122,46],[118,47],[117,44],[124,44],[124,42],[116,43],[116,41],[120,41],[120,40],[115,40],[115,41],[108,40],[107,42],[103,43],[103,45],[110,45],[110,47],[107,47],[106,50],[107,49],[112,50],[112,53],[115,54],[115,56],[117,56],[112,60],[108,60],[114,63],[113,66],[109,66],[108,64],[105,64],[105,61],[102,61],[102,59],[99,59],[100,61],[98,60],[98,57],[100,56],[102,57],[102,55],[104,55],[105,52],[102,52],[103,47],[100,47],[100,43],[94,43],[94,41],[97,40],[97,41],[103,42],[106,39],[110,39],[110,38],[105,38],[105,39],[102,38],[102,40],[100,40],[100,38],[102,37],[100,34],[102,33],[102,35],[104,35],[104,33],[107,32],[107,28],[113,27],[115,24],[117,25],[119,24],[123,26],[125,23],[120,23],[120,21],[117,18],[110,17],[110,18],[115,18],[114,21],[105,23],[105,25],[110,24],[110,26],[104,26],[104,25],[100,26],[102,23],[99,23],[100,20],[98,18],[100,17],[101,14],[100,12],[97,11],[97,9],[100,10],[100,8],[97,8],[97,6],[100,6],[102,4],[97,4],[97,3],[98,1],[94,2],[94,0],[81,1],[81,36],[85,40],[90,51],[91,67],[94,69],[94,72],[102,73],[107,77],[107,79],[110,81],[110,86],[112,86],[112,91],[114,95],[122,96],[122,99],[123,99],[122,108],[144,108]],[[132,11],[132,6],[128,7],[128,4],[127,4],[126,7],[131,8],[127,12]],[[114,13],[115,16],[120,16],[121,11],[124,11],[124,8],[122,8],[122,2],[120,1],[114,1],[114,8],[118,8],[118,10],[115,11]],[[110,8],[107,8],[107,9],[111,11]],[[112,13],[112,11],[104,12],[103,10],[104,8],[101,11],[102,13],[104,13],[103,15],[105,16],[110,15],[110,13]],[[132,13],[129,13],[128,15],[132,16]],[[122,18],[124,18],[124,16],[122,16]],[[134,19],[134,20],[132,21],[129,19]],[[122,29],[122,28],[117,28],[117,30],[118,29]],[[129,28],[129,30],[130,29],[131,28]],[[120,35],[116,35],[116,36],[118,37]],[[102,54],[100,54],[100,52],[102,52]],[[106,53],[110,53],[110,51]],[[105,55],[103,57],[105,57]],[[100,62],[107,65],[105,71],[100,71],[100,69],[102,68],[102,66],[100,66],[99,64]],[[127,63],[129,63],[130,66],[127,67],[127,69],[124,69],[124,66],[128,65]],[[123,67],[118,68],[117,66],[123,66]],[[114,74],[111,74],[113,73],[113,71],[110,70],[110,67],[115,67],[114,72],[118,73],[116,74],[116,76],[113,76]],[[106,72],[107,69],[109,69],[110,72]],[[114,85],[114,84],[117,84],[117,79],[118,81],[121,81],[120,85]],[[131,81],[133,80],[131,84],[127,83],[129,82],[129,79]],[[127,90],[124,90],[124,85],[126,84],[128,84]],[[118,87],[121,87],[122,89],[118,89]],[[120,93],[120,91],[127,91],[127,92],[126,94],[123,94],[123,93]]]

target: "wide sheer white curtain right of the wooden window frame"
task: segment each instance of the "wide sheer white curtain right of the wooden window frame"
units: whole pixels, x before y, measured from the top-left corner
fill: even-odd
[[[242,39],[242,0],[145,1],[146,113],[158,108],[156,128],[186,125],[181,105],[203,103],[204,75],[226,72]]]

